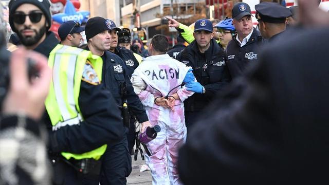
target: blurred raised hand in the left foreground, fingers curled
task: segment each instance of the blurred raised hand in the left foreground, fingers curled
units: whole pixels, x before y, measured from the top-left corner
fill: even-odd
[[[27,58],[35,61],[36,71],[40,74],[29,82]],[[12,53],[9,63],[10,84],[4,100],[4,114],[25,114],[38,120],[44,113],[44,101],[48,95],[51,69],[47,58],[34,51],[19,48]]]

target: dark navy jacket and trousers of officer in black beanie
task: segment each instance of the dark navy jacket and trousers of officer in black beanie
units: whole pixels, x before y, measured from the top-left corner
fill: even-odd
[[[138,98],[129,77],[126,75],[126,67],[122,59],[110,52],[105,51],[103,56],[102,83],[111,91],[116,100],[116,105],[122,106],[125,98],[128,106],[140,122],[148,121],[148,116]],[[121,87],[126,86],[126,95],[122,94]],[[128,128],[125,130],[127,134]],[[103,174],[101,184],[126,184],[125,177],[132,171],[131,156],[128,150],[127,137],[114,145],[108,145],[103,155]]]

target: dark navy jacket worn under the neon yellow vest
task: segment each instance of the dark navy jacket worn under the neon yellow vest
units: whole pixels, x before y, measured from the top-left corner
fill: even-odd
[[[52,32],[34,50],[49,57],[58,40]],[[97,149],[105,143],[117,142],[123,137],[124,127],[113,96],[102,85],[92,85],[81,81],[79,107],[84,118],[79,125],[67,125],[52,131],[48,114],[44,122],[49,130],[49,152],[70,152],[81,154]]]

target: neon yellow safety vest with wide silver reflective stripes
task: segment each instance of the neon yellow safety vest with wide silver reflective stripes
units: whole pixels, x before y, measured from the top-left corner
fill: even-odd
[[[49,54],[48,65],[52,68],[53,73],[45,105],[53,131],[57,131],[63,126],[80,124],[83,121],[79,107],[79,93],[82,73],[87,60],[95,64],[96,72],[102,70],[102,59],[90,51],[59,44]],[[97,73],[97,75],[99,74]],[[99,79],[101,79],[101,74]],[[66,159],[72,157],[77,160],[85,158],[98,160],[105,150],[106,144],[83,154],[62,152],[62,155]]]

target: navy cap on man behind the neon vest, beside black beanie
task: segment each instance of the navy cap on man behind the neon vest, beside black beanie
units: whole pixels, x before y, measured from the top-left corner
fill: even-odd
[[[61,41],[63,41],[68,34],[81,33],[84,31],[84,28],[84,26],[80,26],[79,22],[67,21],[58,28],[58,35]]]

